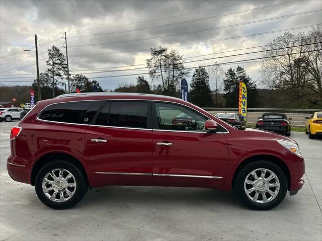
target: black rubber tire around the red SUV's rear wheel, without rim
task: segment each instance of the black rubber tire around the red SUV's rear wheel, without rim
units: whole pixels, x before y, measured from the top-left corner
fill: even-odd
[[[75,192],[69,200],[66,200],[64,202],[55,202],[50,200],[49,197],[47,197],[43,191],[43,179],[49,172],[51,172],[51,170],[55,169],[65,169],[68,172],[70,172],[75,179]],[[76,205],[79,201],[81,201],[84,198],[85,194],[88,191],[88,188],[89,185],[85,174],[81,170],[79,170],[75,165],[70,164],[69,162],[66,162],[64,160],[53,160],[49,164],[42,167],[38,172],[35,180],[35,190],[39,200],[46,206],[53,209],[66,209]]]

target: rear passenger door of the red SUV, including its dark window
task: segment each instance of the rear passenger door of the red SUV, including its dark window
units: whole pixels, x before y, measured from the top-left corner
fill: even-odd
[[[150,185],[150,102],[106,102],[85,133],[89,161],[103,185]]]

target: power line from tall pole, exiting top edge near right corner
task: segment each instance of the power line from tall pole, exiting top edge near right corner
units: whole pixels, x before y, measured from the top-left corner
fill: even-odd
[[[175,26],[175,25],[180,25],[180,24],[188,24],[188,23],[194,23],[194,22],[198,22],[198,21],[215,19],[215,18],[230,16],[230,15],[235,15],[235,14],[240,14],[240,13],[253,12],[253,11],[256,11],[256,10],[262,10],[262,9],[277,7],[277,6],[290,4],[290,3],[295,3],[295,2],[299,2],[299,1],[300,0],[290,1],[290,2],[282,2],[282,3],[279,3],[279,4],[267,5],[267,6],[254,8],[254,9],[247,9],[247,10],[242,10],[242,11],[237,11],[237,12],[232,12],[232,13],[220,14],[220,15],[209,16],[209,17],[204,17],[204,18],[199,18],[199,19],[191,19],[191,20],[180,21],[180,22],[169,23],[169,24],[163,24],[163,25],[154,25],[154,26],[149,26],[149,27],[128,29],[128,30],[120,30],[120,31],[114,31],[114,32],[107,32],[107,33],[97,33],[97,34],[88,34],[88,35],[75,35],[75,36],[71,36],[69,38],[83,38],[83,37],[104,36],[104,35],[112,35],[112,34],[119,34],[119,33],[136,32],[136,31],[142,31],[142,30],[148,30],[148,29],[164,28],[164,27],[170,27],[170,26]]]

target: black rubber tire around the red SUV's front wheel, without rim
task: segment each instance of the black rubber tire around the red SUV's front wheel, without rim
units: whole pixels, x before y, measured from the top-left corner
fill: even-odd
[[[252,201],[246,194],[244,189],[244,182],[247,176],[256,169],[267,169],[275,173],[279,179],[279,192],[277,196],[268,203],[257,203]],[[287,178],[285,173],[274,163],[271,163],[267,160],[257,160],[241,169],[235,176],[233,182],[233,190],[237,198],[247,207],[254,210],[269,210],[278,206],[285,198],[287,193]],[[261,194],[260,194],[261,195]],[[262,197],[262,196],[260,196]]]

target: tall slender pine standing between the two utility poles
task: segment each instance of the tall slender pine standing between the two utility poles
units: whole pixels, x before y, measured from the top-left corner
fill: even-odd
[[[48,68],[46,73],[51,81],[52,97],[55,97],[54,89],[61,84],[63,76],[67,74],[66,58],[59,48],[52,46],[48,49],[48,60],[46,61]]]

